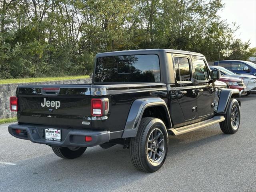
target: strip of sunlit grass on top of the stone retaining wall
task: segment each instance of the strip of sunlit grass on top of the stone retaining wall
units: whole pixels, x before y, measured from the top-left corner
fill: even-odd
[[[84,78],[89,78],[89,76],[88,75],[83,75],[83,76],[65,76],[65,77],[39,77],[39,78],[0,79],[0,84],[33,83],[33,82],[69,80],[69,79],[84,79]]]

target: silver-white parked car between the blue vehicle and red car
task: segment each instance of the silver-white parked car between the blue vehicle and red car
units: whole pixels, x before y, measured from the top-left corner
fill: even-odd
[[[244,84],[246,86],[247,95],[249,95],[253,92],[256,92],[256,76],[235,74],[234,72],[232,72],[224,67],[221,67],[221,66],[210,66],[210,69],[220,70],[220,74],[222,76],[241,78],[244,81]]]

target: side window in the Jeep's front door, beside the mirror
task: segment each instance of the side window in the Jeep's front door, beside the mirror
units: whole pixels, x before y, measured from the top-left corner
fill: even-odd
[[[202,81],[209,79],[208,70],[204,60],[194,59],[194,68],[196,73],[196,80]]]

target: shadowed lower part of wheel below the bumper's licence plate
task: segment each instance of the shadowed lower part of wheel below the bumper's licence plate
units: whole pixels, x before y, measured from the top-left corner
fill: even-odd
[[[52,146],[53,152],[60,158],[74,159],[80,157],[86,150],[86,147],[55,147]]]

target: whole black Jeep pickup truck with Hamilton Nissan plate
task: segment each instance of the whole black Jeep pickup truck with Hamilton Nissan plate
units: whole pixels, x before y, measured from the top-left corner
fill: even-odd
[[[92,84],[18,86],[10,98],[16,138],[49,145],[61,157],[81,156],[87,147],[130,148],[134,166],[158,170],[177,136],[220,123],[234,134],[240,124],[238,90],[214,86],[202,54],[153,49],[96,55]]]

